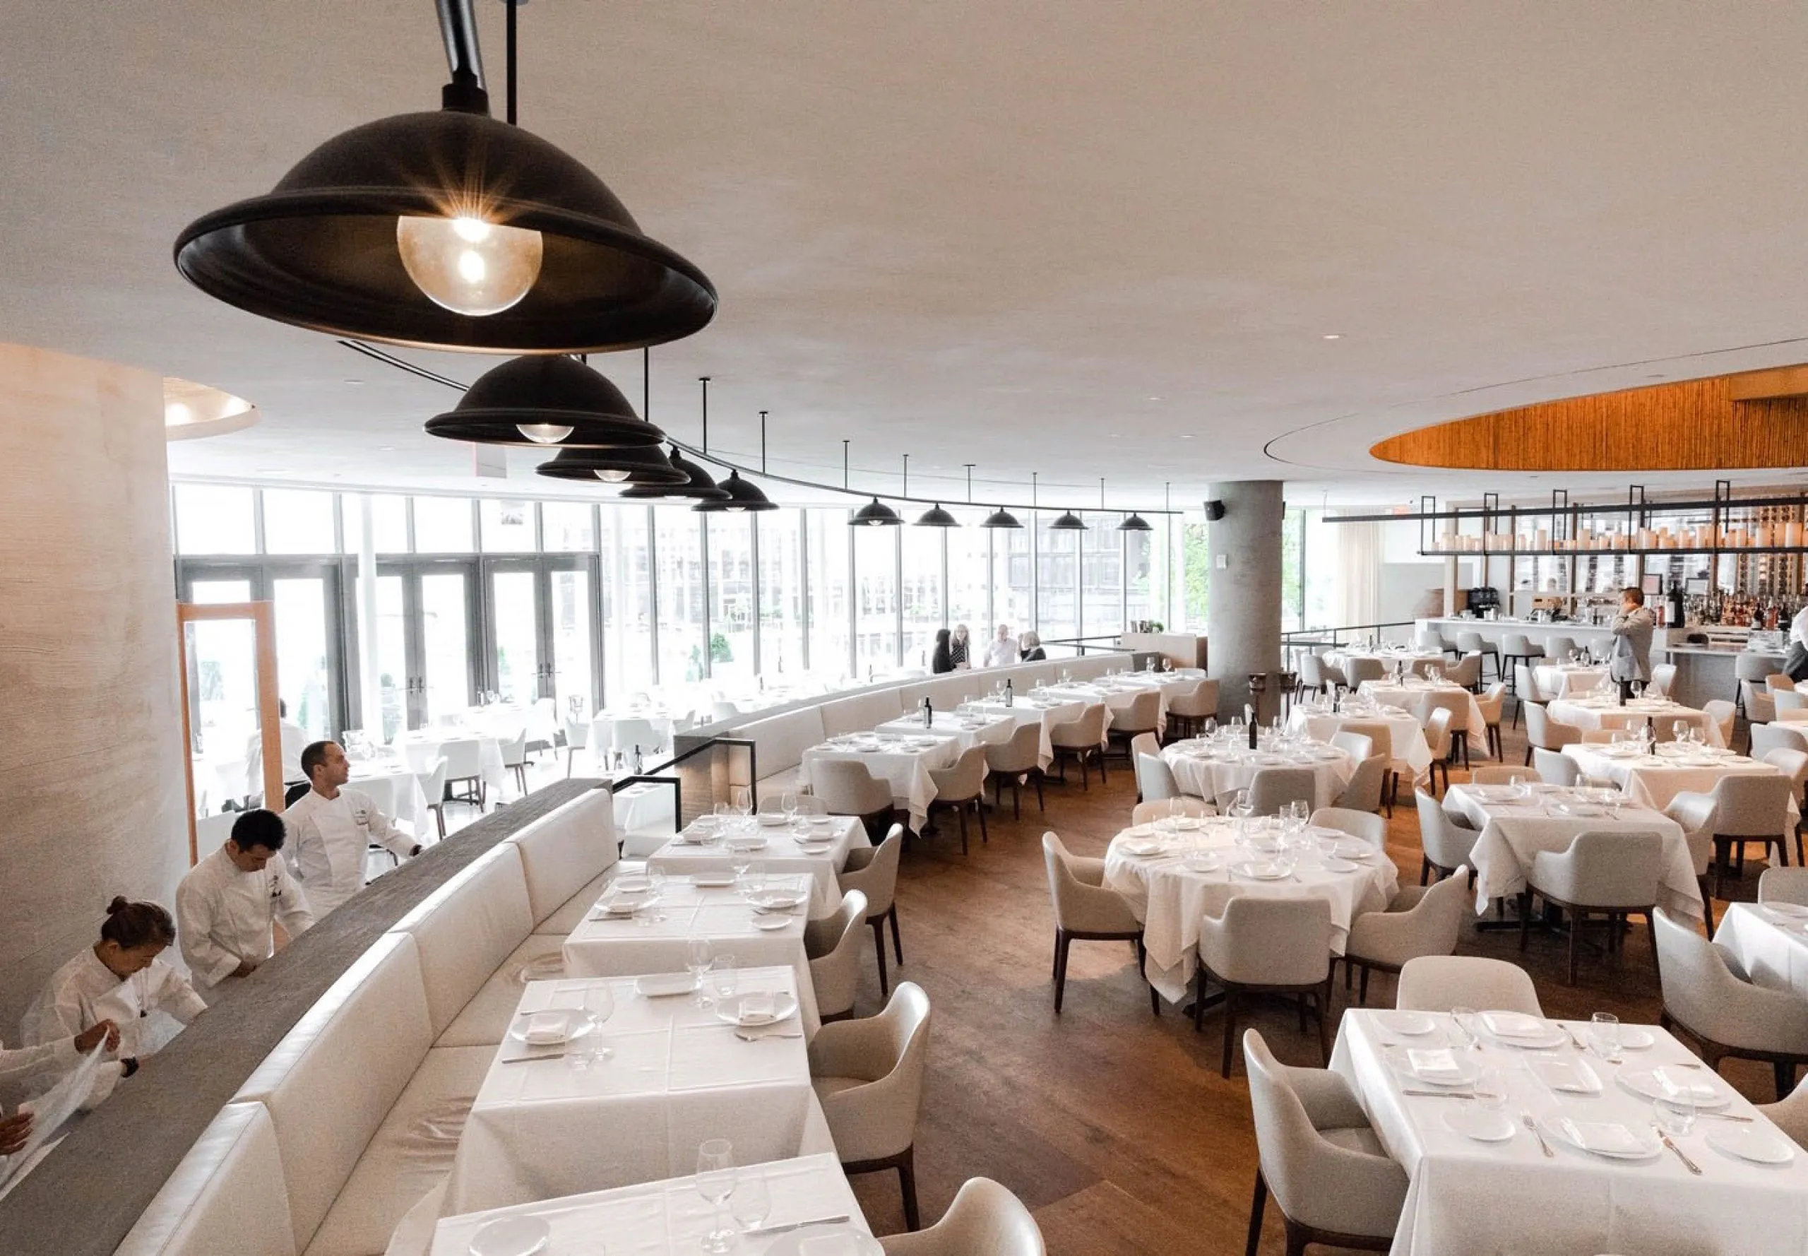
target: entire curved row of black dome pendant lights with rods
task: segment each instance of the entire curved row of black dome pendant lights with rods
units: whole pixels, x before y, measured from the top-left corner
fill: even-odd
[[[541,475],[622,484],[620,495],[633,501],[776,510],[738,470],[716,483],[580,360],[702,331],[718,298],[696,266],[640,231],[595,173],[515,125],[519,2],[506,0],[506,123],[490,116],[472,0],[436,0],[450,70],[441,108],[354,127],[302,157],[269,193],[195,219],[175,240],[177,269],[226,304],[313,331],[524,354],[486,370],[452,410],[428,419],[430,436],[557,448]],[[763,410],[759,443],[765,468]],[[908,475],[906,455],[906,495]],[[969,466],[969,501],[971,490]],[[1101,481],[1101,508],[1103,495]],[[873,497],[852,522],[904,520]],[[917,526],[958,520],[937,502]],[[1002,508],[980,526],[1022,528]],[[1072,511],[1049,526],[1087,528]],[[1119,524],[1148,530],[1141,515]]]

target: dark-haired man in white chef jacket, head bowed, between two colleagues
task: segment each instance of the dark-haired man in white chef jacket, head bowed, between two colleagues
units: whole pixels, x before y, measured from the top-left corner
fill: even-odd
[[[175,889],[183,960],[208,1003],[226,981],[251,976],[275,952],[275,925],[295,938],[315,923],[278,853],[286,839],[280,815],[246,811],[231,837]]]

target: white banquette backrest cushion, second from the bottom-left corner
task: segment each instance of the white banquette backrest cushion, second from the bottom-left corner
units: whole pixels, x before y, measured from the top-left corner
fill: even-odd
[[[430,1045],[414,938],[387,933],[239,1088],[235,1099],[269,1108],[297,1251],[307,1249]],[[257,1193],[266,1205],[271,1195]]]

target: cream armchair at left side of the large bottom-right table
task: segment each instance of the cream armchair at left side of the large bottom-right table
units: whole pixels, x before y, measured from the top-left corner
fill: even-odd
[[[1262,1245],[1269,1193],[1287,1227],[1287,1254],[1309,1243],[1385,1252],[1394,1245],[1407,1173],[1369,1126],[1356,1092],[1329,1068],[1282,1064],[1255,1030],[1244,1034],[1255,1117],[1249,1247]]]

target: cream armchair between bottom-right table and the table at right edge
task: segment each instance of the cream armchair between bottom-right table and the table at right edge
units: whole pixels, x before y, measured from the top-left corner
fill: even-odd
[[[1678,1026],[1719,1072],[1727,1055],[1770,1061],[1777,1099],[1795,1088],[1795,1066],[1808,1064],[1808,1003],[1792,990],[1741,981],[1712,942],[1662,907],[1651,918],[1658,936],[1663,1028]]]

